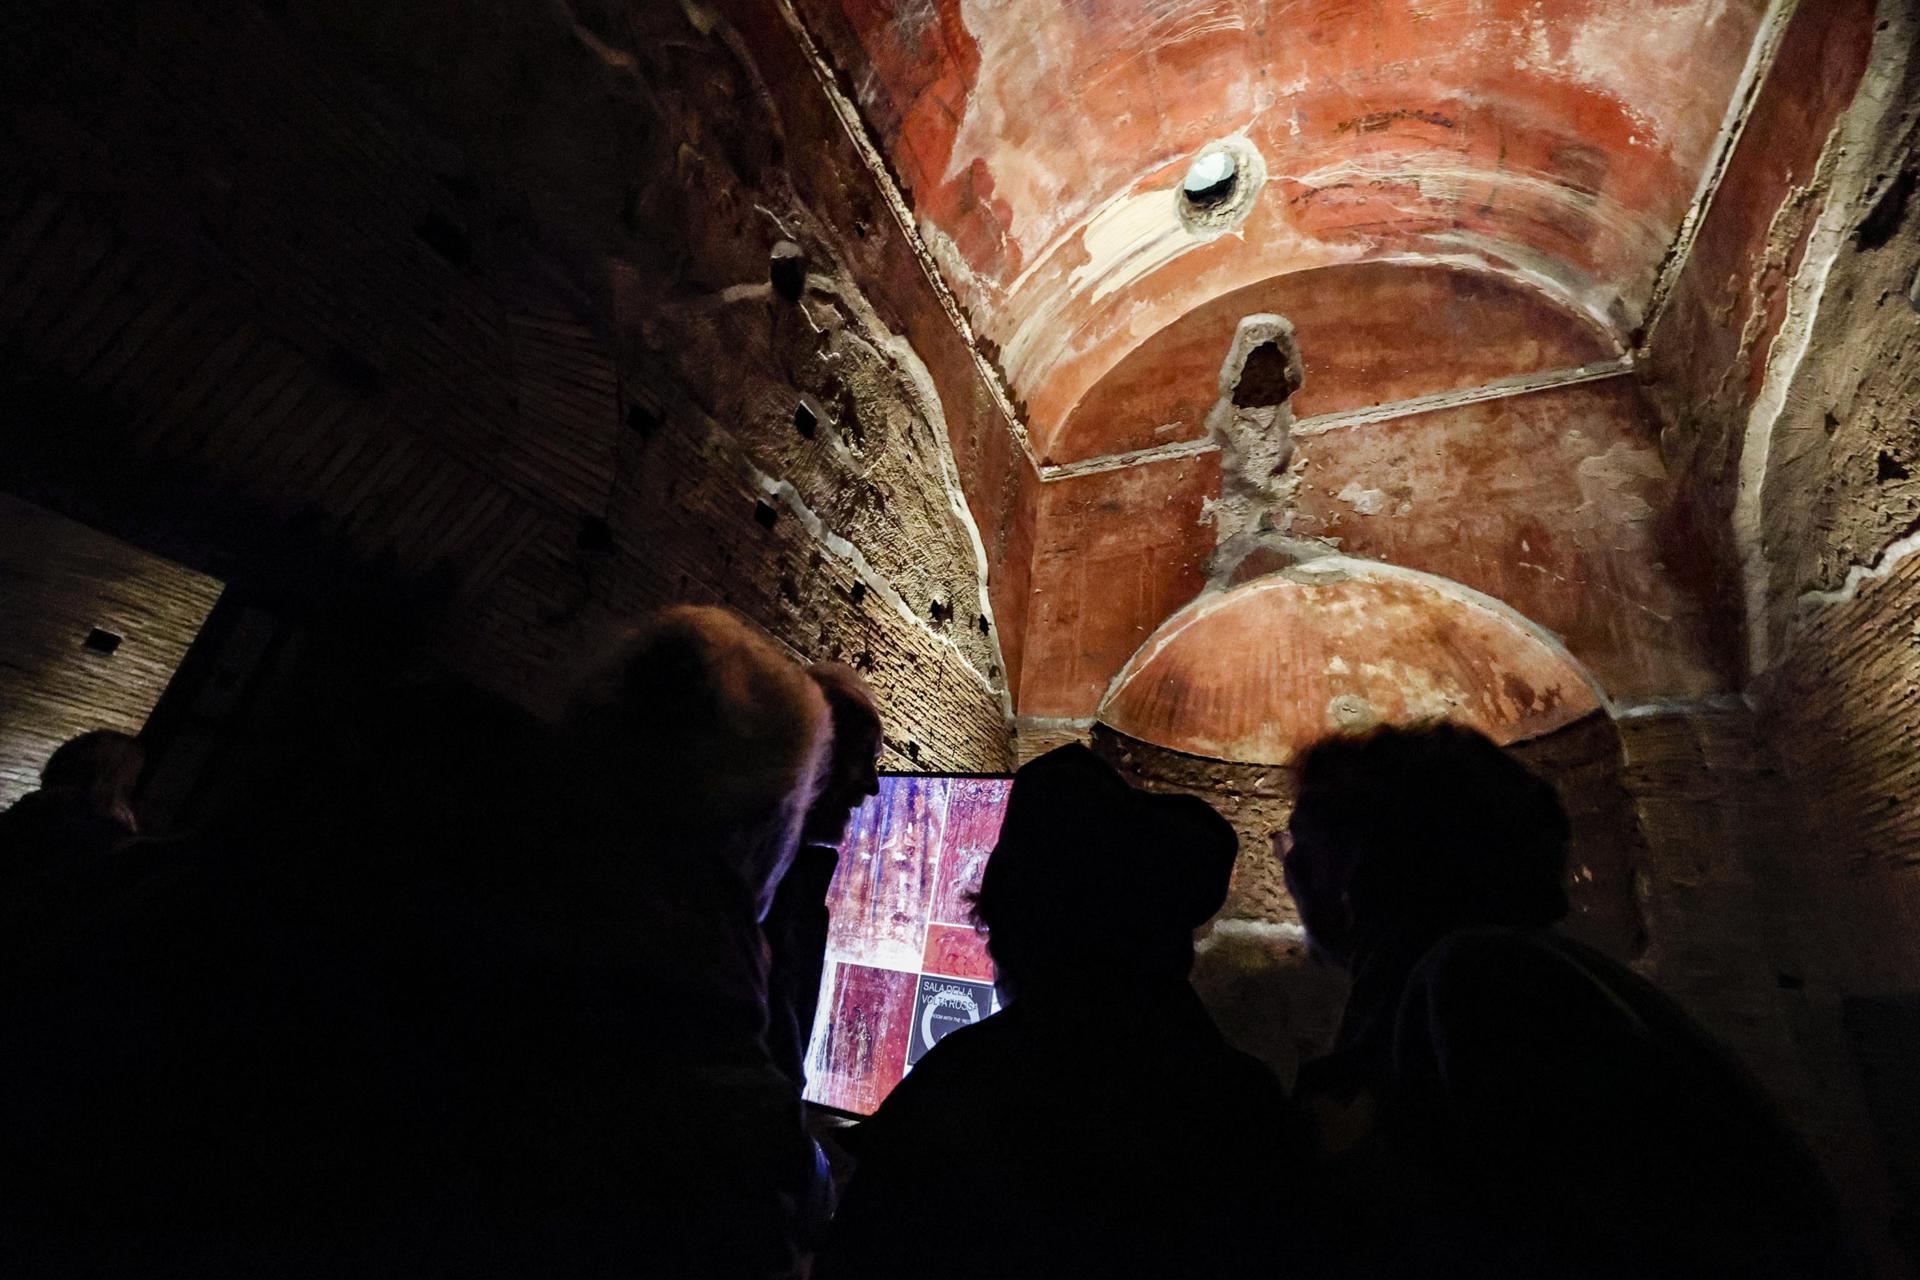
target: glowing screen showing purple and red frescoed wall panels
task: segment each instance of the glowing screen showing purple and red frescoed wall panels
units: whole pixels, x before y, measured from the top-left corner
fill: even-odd
[[[1000,835],[1008,777],[891,775],[847,827],[806,1096],[872,1113],[948,1032],[995,1011],[968,894]]]

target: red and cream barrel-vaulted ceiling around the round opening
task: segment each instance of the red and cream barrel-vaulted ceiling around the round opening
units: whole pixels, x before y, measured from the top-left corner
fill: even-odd
[[[1764,0],[799,0],[1041,428],[1187,311],[1290,271],[1453,263],[1626,330]],[[1171,192],[1269,177],[1196,242]]]

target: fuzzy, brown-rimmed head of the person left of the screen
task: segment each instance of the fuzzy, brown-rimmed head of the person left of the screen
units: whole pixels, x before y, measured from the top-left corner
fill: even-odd
[[[645,829],[726,858],[766,915],[828,745],[801,668],[724,608],[664,608],[582,681],[568,729]]]

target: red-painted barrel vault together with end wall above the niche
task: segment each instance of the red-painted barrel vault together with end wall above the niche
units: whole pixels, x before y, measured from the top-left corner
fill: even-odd
[[[1002,566],[1029,597],[1021,716],[1092,716],[1208,591],[1204,418],[1254,313],[1306,365],[1292,532],[1513,606],[1607,697],[1728,683],[1632,357],[1782,6],[793,10],[1023,415],[1033,482],[983,512],[1031,549]],[[1236,163],[1219,215],[1181,196],[1212,152]]]

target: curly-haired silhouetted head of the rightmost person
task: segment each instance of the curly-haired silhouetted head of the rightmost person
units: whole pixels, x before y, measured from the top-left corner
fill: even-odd
[[[1430,723],[1331,737],[1300,766],[1286,887],[1313,948],[1352,967],[1384,938],[1567,915],[1567,812],[1473,729]]]

